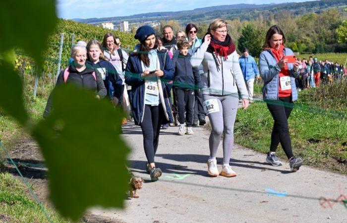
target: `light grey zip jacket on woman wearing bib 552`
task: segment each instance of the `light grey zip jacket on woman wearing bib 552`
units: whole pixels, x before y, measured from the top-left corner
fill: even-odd
[[[190,58],[191,65],[197,67],[202,64],[202,94],[231,95],[237,94],[237,88],[242,99],[248,99],[246,84],[243,80],[236,51],[228,55],[227,59],[219,57],[220,69],[217,68],[213,55],[207,52],[208,45],[202,43]]]

